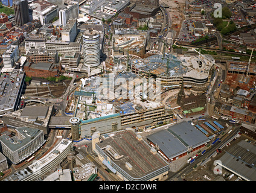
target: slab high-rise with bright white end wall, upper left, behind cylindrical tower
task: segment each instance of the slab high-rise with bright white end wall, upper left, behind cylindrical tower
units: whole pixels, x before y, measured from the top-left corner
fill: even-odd
[[[69,19],[77,19],[79,8],[78,2],[74,2],[74,4],[68,5],[62,10],[59,11],[59,19],[60,25],[66,26]]]

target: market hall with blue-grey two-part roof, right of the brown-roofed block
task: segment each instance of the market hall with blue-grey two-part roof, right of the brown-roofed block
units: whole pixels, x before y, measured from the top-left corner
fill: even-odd
[[[186,156],[210,142],[210,139],[187,121],[150,134],[147,140],[168,161]]]

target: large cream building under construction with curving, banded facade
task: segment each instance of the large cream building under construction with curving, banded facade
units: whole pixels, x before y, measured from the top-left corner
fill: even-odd
[[[159,78],[161,85],[166,88],[181,87],[184,81],[184,86],[194,91],[204,92],[207,89],[211,69],[215,64],[213,57],[180,55],[169,60],[168,69],[166,68],[167,60],[161,57],[162,55],[156,54],[144,59],[144,62],[132,63],[132,72],[146,77],[150,74],[152,77]]]

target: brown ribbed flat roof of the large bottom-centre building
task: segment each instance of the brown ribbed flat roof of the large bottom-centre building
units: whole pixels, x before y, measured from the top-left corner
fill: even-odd
[[[151,147],[145,141],[139,141],[132,130],[104,134],[97,145],[107,156],[111,157],[111,162],[134,178],[144,177],[168,166],[168,163],[158,153],[153,154],[150,151]],[[110,149],[108,150],[107,147]],[[116,153],[118,157],[112,156],[113,153]],[[126,163],[132,166],[131,170],[126,168]]]

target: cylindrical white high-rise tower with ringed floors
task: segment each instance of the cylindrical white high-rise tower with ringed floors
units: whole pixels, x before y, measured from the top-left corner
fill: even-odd
[[[90,67],[100,65],[100,33],[97,30],[83,33],[83,63]]]

